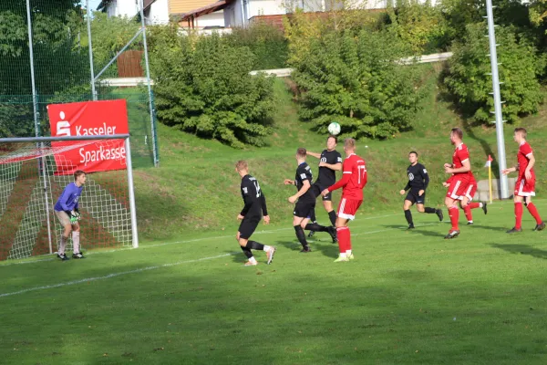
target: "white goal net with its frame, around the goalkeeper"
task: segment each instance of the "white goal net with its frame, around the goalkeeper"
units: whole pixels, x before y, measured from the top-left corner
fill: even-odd
[[[0,140],[0,260],[57,251],[63,227],[54,206],[76,170],[87,172],[78,201],[80,246],[137,246],[129,140],[17,140]],[[96,162],[114,165],[88,172]]]

